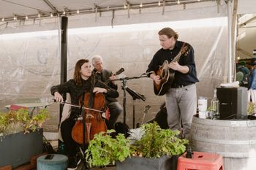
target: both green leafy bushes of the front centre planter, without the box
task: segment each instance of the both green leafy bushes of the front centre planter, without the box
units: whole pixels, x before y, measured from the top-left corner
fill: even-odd
[[[124,161],[130,155],[159,158],[163,155],[181,155],[185,152],[185,144],[188,144],[188,141],[178,139],[179,131],[162,129],[157,123],[147,123],[142,128],[143,136],[132,144],[123,134],[113,138],[110,134],[115,132],[114,130],[95,134],[86,150],[89,166],[107,166],[116,161]]]

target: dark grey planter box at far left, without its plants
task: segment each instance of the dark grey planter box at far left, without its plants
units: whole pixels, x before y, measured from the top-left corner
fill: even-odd
[[[34,155],[42,153],[42,128],[29,134],[0,136],[0,167],[11,165],[12,169],[29,163]]]

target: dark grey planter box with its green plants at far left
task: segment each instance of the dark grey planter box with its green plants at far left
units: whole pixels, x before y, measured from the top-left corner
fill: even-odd
[[[15,168],[42,153],[42,123],[49,117],[47,109],[33,117],[27,109],[0,113],[0,167]]]

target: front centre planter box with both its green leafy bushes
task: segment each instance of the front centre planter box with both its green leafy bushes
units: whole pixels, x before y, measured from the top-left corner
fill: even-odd
[[[178,139],[179,131],[161,129],[157,123],[144,124],[141,130],[141,138],[133,143],[123,134],[118,134],[116,139],[111,138],[113,131],[95,135],[86,150],[89,165],[116,163],[117,169],[121,170],[176,169],[177,155],[186,150],[188,141]]]

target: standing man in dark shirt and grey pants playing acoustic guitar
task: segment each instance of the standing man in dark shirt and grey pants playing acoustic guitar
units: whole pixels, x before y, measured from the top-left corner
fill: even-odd
[[[158,35],[162,48],[155,53],[146,72],[151,72],[154,93],[166,94],[169,128],[178,129],[182,137],[188,138],[192,116],[197,110],[195,82],[199,81],[194,50],[188,43],[178,41],[178,34],[172,28],[162,28]]]

